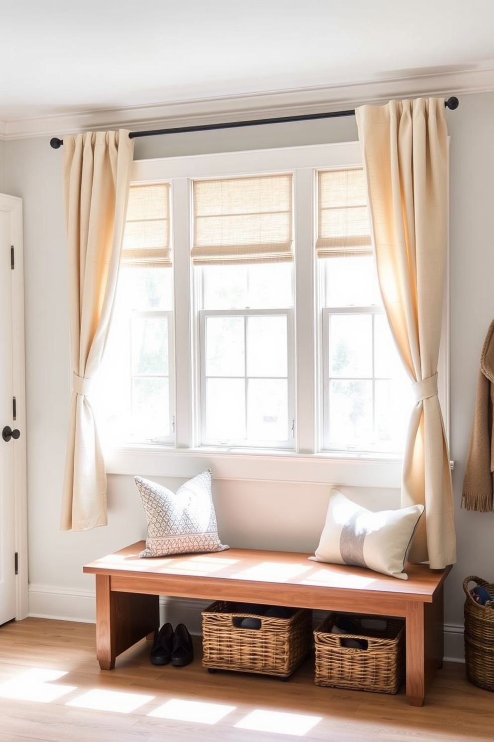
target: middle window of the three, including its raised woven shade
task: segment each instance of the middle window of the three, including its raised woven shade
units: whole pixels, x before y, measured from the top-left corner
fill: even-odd
[[[293,447],[293,176],[193,181],[201,444]]]

